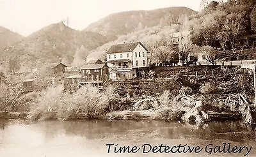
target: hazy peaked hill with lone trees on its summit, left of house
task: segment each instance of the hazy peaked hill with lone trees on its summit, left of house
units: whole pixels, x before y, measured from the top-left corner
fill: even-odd
[[[77,31],[62,22],[44,27],[1,53],[3,61],[17,57],[21,66],[29,68],[41,63],[66,59],[72,63],[76,50],[92,50],[108,42],[106,36],[89,31]],[[60,61],[60,60],[58,60]]]

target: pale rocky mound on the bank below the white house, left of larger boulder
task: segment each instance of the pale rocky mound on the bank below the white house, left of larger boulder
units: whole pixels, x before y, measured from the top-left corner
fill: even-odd
[[[159,103],[157,103],[154,99],[143,99],[134,104],[134,110],[148,110],[150,108],[157,108],[159,107]]]

